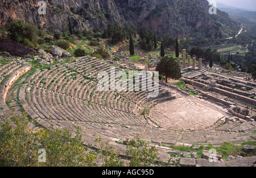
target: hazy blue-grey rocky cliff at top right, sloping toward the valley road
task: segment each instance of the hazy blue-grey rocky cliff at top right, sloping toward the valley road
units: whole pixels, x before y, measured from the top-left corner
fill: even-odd
[[[225,27],[224,31],[237,30],[237,24],[220,10],[209,14],[207,0],[114,0],[118,11],[129,23],[172,36],[190,36],[193,32],[209,27],[219,31],[216,23]],[[216,28],[214,30],[214,28]]]

